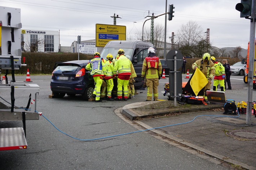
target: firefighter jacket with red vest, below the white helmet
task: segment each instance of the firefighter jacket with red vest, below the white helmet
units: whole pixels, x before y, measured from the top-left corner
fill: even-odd
[[[158,78],[162,74],[162,65],[158,57],[146,57],[143,61],[141,77]]]

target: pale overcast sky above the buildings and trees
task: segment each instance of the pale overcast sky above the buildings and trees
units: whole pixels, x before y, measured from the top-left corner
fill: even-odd
[[[148,15],[165,13],[165,0],[0,0],[0,6],[21,9],[22,29],[60,31],[61,46],[71,46],[81,35],[81,41],[95,39],[95,24],[114,24],[114,13],[120,18],[116,25],[126,26],[127,38],[137,39]],[[167,20],[167,42],[181,24],[195,21],[206,37],[210,29],[213,46],[247,49],[250,20],[240,18],[235,5],[240,0],[167,0],[175,6],[175,17]],[[168,11],[168,10],[167,10]],[[147,18],[145,18],[147,17]],[[0,19],[1,20],[1,19]],[[155,23],[165,23],[165,16]],[[150,28],[150,20],[144,29]],[[145,31],[145,30],[144,30]],[[177,40],[175,40],[177,41]]]

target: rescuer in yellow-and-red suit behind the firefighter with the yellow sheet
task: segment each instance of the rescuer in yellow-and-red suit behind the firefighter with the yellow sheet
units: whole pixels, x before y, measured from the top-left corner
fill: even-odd
[[[211,56],[211,60],[214,63],[215,76],[213,79],[213,91],[217,91],[217,87],[220,83],[220,90],[225,91],[225,68],[224,66],[216,61],[214,56]]]

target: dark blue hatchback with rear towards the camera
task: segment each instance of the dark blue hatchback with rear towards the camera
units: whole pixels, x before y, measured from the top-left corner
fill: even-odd
[[[62,98],[82,95],[85,100],[92,98],[94,80],[90,71],[85,69],[89,60],[74,60],[56,63],[53,70],[50,88],[53,96]]]

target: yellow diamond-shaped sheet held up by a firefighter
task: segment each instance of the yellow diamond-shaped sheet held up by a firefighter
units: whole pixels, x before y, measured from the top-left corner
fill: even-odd
[[[193,77],[190,79],[190,86],[193,89],[195,95],[197,96],[198,93],[206,84],[208,83],[207,78],[205,75],[197,68]]]

